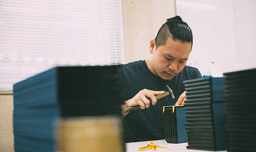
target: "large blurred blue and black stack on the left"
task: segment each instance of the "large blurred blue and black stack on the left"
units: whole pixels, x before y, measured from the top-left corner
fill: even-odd
[[[120,66],[55,67],[13,85],[16,152],[54,152],[62,117],[121,116]]]

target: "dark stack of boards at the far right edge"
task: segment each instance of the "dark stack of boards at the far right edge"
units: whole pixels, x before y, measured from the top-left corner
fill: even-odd
[[[229,152],[256,151],[256,69],[224,73],[226,76]]]

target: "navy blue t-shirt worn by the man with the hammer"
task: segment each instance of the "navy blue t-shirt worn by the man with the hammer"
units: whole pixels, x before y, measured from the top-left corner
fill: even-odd
[[[133,98],[143,89],[154,91],[168,91],[168,85],[175,96],[165,96],[158,99],[155,106],[130,111],[124,118],[125,142],[139,142],[164,139],[163,106],[174,105],[184,92],[184,80],[201,78],[197,68],[185,66],[183,70],[171,80],[163,80],[154,75],[146,65],[146,61],[136,61],[122,65],[121,80],[125,101]]]

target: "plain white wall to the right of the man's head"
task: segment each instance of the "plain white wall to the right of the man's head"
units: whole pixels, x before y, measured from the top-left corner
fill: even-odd
[[[193,31],[187,65],[210,72],[212,61],[220,73],[256,68],[256,0],[176,0],[177,15]]]

